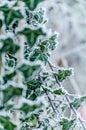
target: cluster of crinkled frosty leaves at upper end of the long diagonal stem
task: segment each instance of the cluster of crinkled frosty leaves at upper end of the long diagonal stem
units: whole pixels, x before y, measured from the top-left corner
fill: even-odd
[[[50,37],[48,40],[39,43],[39,48],[36,48],[30,57],[31,61],[41,60],[45,64],[48,61],[49,50],[55,49],[56,46],[56,35]]]

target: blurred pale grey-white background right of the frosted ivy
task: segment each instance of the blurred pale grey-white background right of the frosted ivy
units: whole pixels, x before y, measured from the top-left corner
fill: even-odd
[[[74,68],[74,75],[64,81],[69,93],[86,94],[86,0],[46,0],[47,28],[58,32],[58,46],[52,64]],[[39,5],[40,6],[40,5]]]

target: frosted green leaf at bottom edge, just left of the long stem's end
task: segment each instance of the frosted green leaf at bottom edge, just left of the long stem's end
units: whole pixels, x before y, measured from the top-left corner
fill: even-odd
[[[62,125],[62,130],[70,130],[70,128],[74,125],[75,119],[73,120],[68,120],[68,119],[63,119],[60,122],[60,125]]]

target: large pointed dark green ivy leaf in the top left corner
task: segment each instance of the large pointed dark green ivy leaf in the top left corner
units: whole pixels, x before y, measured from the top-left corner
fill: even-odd
[[[0,11],[3,11],[4,17],[5,17],[5,23],[7,26],[9,26],[14,19],[22,19],[23,16],[20,13],[19,10],[13,10],[12,8],[9,8],[7,5],[1,6]]]

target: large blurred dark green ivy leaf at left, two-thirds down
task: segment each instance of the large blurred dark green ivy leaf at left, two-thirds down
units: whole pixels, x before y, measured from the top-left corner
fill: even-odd
[[[3,90],[3,103],[7,103],[11,98],[22,95],[22,88],[16,88],[9,85]]]

